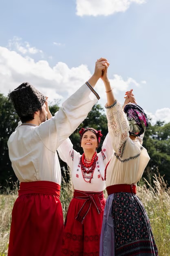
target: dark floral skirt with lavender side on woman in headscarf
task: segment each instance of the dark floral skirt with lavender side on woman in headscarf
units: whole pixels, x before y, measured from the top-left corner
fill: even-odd
[[[104,213],[100,256],[158,256],[148,215],[137,195],[112,194],[105,209],[109,212]]]

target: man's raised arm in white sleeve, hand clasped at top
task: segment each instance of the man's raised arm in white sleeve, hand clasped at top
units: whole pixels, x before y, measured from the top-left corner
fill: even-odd
[[[79,124],[87,117],[97,100],[98,94],[93,89],[97,80],[106,69],[106,59],[101,58],[95,63],[95,72],[91,79],[69,97],[54,117],[38,127],[38,135],[44,145],[55,152],[60,144],[68,138]]]

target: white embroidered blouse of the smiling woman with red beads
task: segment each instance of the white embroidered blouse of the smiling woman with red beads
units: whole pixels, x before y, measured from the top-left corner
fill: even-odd
[[[104,139],[101,152],[97,153],[98,160],[93,173],[91,183],[89,183],[89,177],[91,173],[83,173],[80,166],[80,153],[73,149],[71,140],[66,139],[60,147],[57,149],[60,158],[66,162],[71,169],[71,177],[73,180],[74,189],[80,191],[93,191],[100,192],[106,188],[104,180],[104,170],[106,164],[113,154],[112,145],[110,143],[110,135],[106,135]],[[102,179],[103,178],[103,179]]]

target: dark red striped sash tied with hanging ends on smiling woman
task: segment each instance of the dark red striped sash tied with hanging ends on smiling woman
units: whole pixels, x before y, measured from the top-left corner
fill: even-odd
[[[88,211],[91,208],[91,204],[95,205],[97,212],[100,214],[104,207],[102,205],[101,200],[104,199],[104,194],[102,192],[86,192],[86,191],[74,191],[74,198],[84,200],[84,204],[79,209],[77,216],[75,217],[76,220],[83,223],[84,218],[86,217]]]

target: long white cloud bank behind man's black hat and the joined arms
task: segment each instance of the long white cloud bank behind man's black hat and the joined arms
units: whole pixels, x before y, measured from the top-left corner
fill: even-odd
[[[95,65],[95,64],[94,64]],[[30,82],[38,90],[54,99],[66,99],[73,94],[90,77],[91,72],[84,64],[78,67],[69,68],[66,63],[58,62],[50,67],[46,60],[35,60],[29,56],[22,56],[20,53],[11,51],[6,47],[0,47],[0,92],[8,94],[23,82]],[[113,75],[110,79],[114,92],[125,92],[130,87],[139,86],[132,78],[126,81],[119,75]],[[96,90],[99,93],[101,103],[104,106],[106,101],[105,89],[102,80],[97,83]]]

